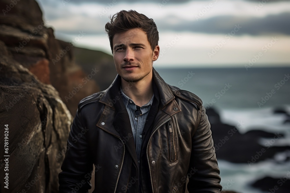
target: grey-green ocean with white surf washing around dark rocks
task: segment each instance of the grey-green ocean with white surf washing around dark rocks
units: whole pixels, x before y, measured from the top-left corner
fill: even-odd
[[[290,146],[290,122],[284,124],[287,116],[273,113],[282,108],[290,114],[290,68],[155,69],[168,84],[199,96],[206,109],[212,107],[220,114],[223,123],[237,125],[239,121],[244,122],[238,128],[240,133],[253,129],[280,132],[285,137],[278,139],[275,146]],[[261,139],[260,144],[267,140]],[[287,157],[290,157],[290,149],[251,167],[248,163],[218,160],[221,184],[224,190],[268,193],[270,190],[263,192],[250,184],[266,176],[286,176],[290,170]],[[290,179],[285,183],[290,183]]]

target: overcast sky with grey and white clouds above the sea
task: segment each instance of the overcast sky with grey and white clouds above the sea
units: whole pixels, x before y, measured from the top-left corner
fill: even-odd
[[[56,38],[108,54],[104,25],[109,16],[131,9],[145,14],[155,21],[160,36],[162,53],[155,67],[290,66],[290,1],[37,2]],[[78,39],[80,32],[84,36]]]

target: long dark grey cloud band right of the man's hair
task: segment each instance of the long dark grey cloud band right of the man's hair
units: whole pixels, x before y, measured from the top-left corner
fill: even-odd
[[[234,30],[235,25],[242,28],[237,35],[264,35],[286,34],[290,35],[290,13],[285,12],[265,17],[241,17],[241,16],[216,16],[198,21],[185,21],[183,19],[168,17],[169,19],[156,21],[160,30],[176,32],[188,31],[207,34],[227,34]],[[173,22],[171,22],[173,21]]]

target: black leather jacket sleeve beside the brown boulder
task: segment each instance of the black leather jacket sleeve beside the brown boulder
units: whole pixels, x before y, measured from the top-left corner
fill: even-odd
[[[91,188],[93,163],[86,141],[87,131],[77,111],[68,136],[62,172],[59,173],[59,192],[88,192]]]

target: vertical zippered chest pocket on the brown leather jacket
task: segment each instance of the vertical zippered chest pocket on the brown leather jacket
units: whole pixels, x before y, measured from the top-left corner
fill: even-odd
[[[167,127],[169,162],[175,162],[177,161],[177,145],[176,145],[176,132],[173,128],[172,120],[169,120],[166,123],[166,127]]]

